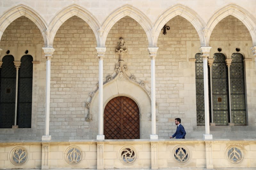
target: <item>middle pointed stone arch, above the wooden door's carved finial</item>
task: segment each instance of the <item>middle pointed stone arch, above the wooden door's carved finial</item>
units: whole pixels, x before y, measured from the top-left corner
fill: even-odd
[[[106,39],[108,36],[108,32],[110,29],[114,26],[114,24],[124,18],[125,16],[129,16],[132,19],[136,20],[140,26],[144,29],[147,38],[148,38],[148,45],[149,47],[152,46],[152,36],[151,36],[151,28],[152,28],[152,23],[146,15],[138,10],[137,8],[131,6],[131,5],[124,5],[116,9],[114,12],[112,12],[108,18],[103,22],[101,31],[102,36],[101,36],[101,46],[104,47],[106,43]]]

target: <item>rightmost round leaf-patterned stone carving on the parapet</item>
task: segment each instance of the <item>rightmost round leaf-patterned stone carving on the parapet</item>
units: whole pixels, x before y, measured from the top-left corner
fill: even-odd
[[[244,153],[238,146],[231,146],[227,149],[228,160],[233,164],[239,164],[243,161]]]

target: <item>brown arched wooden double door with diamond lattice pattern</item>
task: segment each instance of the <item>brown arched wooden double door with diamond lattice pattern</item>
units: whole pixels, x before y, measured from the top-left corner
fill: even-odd
[[[111,99],[104,109],[105,139],[140,139],[138,105],[129,97]]]

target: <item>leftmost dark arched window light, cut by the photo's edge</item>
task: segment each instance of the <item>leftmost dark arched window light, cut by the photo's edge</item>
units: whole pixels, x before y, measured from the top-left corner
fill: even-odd
[[[2,59],[1,97],[0,97],[0,128],[12,128],[15,113],[16,69],[12,55]]]

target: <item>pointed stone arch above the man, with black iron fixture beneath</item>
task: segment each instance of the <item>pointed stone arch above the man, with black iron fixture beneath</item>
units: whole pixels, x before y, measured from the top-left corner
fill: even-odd
[[[204,46],[205,39],[203,29],[205,27],[205,23],[203,19],[195,11],[181,4],[177,4],[165,10],[162,14],[159,15],[153,28],[153,46],[156,46],[159,33],[163,28],[164,24],[166,24],[170,19],[176,17],[177,15],[180,15],[181,17],[187,19],[195,27],[197,34],[200,38],[201,46]]]

